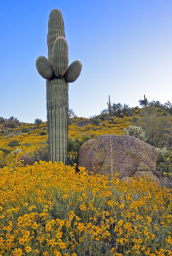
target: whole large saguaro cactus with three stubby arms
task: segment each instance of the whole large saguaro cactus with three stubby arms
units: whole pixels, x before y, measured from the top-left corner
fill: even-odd
[[[68,67],[68,45],[65,39],[61,12],[52,10],[48,31],[49,58],[40,56],[36,68],[47,79],[47,121],[51,161],[66,163],[68,123],[68,83],[81,73],[81,62],[74,61]]]

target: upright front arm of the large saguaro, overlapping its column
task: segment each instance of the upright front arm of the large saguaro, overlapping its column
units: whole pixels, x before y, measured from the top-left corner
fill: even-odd
[[[63,36],[54,41],[51,63],[56,77],[62,77],[68,68],[68,45]]]

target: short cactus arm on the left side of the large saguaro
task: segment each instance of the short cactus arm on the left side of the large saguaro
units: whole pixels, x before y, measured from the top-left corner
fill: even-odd
[[[36,68],[43,78],[51,80],[54,77],[51,63],[47,58],[43,56],[38,57],[36,60]]]

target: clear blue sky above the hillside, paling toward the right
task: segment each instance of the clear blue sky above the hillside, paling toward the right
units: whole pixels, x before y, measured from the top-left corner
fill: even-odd
[[[139,106],[172,102],[171,0],[9,0],[0,3],[0,116],[47,119],[46,82],[37,72],[47,57],[49,13],[61,10],[69,63],[82,62],[69,84],[69,108],[90,117],[111,102]]]

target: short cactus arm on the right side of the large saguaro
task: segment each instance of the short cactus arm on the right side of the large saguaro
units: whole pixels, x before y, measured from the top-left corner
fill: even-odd
[[[75,60],[74,62],[72,62],[72,64],[70,64],[65,74],[66,82],[67,83],[74,82],[77,79],[77,77],[79,77],[81,73],[81,69],[82,69],[82,64],[80,61]]]

